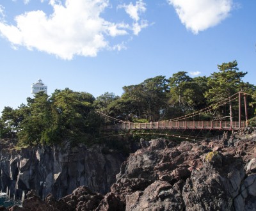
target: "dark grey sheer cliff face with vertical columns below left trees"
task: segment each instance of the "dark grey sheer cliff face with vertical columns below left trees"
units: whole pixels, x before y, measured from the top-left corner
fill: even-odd
[[[106,193],[124,161],[121,153],[102,153],[100,146],[22,148],[0,156],[1,190],[12,196],[35,189],[42,198],[49,192],[61,198],[81,185]]]

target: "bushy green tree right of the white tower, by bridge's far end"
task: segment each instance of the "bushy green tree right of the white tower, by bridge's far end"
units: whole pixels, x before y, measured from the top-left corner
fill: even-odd
[[[90,93],[76,92],[66,88],[56,91],[52,101],[54,125],[62,136],[70,141],[81,141],[88,131],[88,114],[93,111],[95,98]]]

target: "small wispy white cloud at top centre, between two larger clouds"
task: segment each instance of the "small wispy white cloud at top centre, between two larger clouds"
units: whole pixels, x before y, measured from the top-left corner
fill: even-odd
[[[143,0],[136,1],[135,4],[122,4],[118,8],[124,8],[125,12],[131,17],[134,22],[132,23],[132,31],[134,35],[138,35],[141,29],[148,26],[147,20],[141,20],[140,15],[146,12],[146,4]]]

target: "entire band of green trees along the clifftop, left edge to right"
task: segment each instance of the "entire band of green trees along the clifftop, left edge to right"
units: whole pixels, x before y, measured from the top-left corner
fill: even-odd
[[[21,146],[52,145],[63,140],[86,143],[99,136],[100,126],[108,123],[96,111],[134,122],[170,120],[220,102],[238,91],[250,94],[248,113],[253,118],[256,89],[243,82],[246,74],[239,71],[237,61],[232,61],[218,65],[218,72],[209,77],[192,78],[187,72],[177,72],[169,79],[159,75],[124,86],[121,97],[106,92],[94,98],[90,93],[68,88],[55,90],[51,96],[37,93],[17,109],[4,107],[0,136],[18,137]],[[204,118],[226,118],[236,110],[236,103],[232,107],[223,105],[204,114]]]

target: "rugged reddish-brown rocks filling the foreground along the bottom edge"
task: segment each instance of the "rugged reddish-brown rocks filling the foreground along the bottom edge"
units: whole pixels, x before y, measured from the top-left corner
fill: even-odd
[[[141,140],[105,196],[85,186],[58,201],[30,193],[12,210],[256,210],[255,143],[252,129],[201,143]]]

